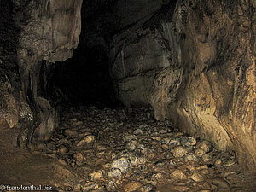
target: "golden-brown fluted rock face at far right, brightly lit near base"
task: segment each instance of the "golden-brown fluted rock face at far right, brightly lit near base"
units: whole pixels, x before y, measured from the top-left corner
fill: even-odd
[[[254,10],[251,1],[183,1],[174,17],[186,75],[172,113],[183,130],[234,149],[249,170],[256,166]]]

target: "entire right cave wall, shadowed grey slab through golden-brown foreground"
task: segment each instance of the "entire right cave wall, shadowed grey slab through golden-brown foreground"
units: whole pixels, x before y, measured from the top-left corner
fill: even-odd
[[[156,119],[235,150],[256,170],[255,1],[178,0],[174,11],[161,9],[113,38],[119,99],[151,105]]]

